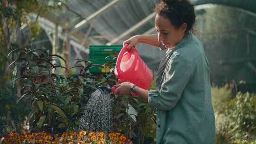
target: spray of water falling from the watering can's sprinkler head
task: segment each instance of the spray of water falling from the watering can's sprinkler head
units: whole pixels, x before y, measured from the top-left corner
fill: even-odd
[[[110,133],[113,128],[110,90],[100,87],[91,94],[84,114],[80,119],[80,130]]]

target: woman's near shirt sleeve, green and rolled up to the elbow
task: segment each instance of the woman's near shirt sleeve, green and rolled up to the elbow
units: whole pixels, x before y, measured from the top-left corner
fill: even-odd
[[[179,55],[171,58],[167,67],[161,89],[150,90],[148,95],[149,105],[163,110],[174,108],[192,75],[192,63]]]

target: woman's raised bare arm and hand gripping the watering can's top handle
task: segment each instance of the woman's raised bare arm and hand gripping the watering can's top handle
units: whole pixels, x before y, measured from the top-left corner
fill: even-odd
[[[128,50],[135,47],[137,43],[144,43],[148,45],[154,45],[159,47],[159,41],[158,41],[158,36],[157,35],[136,35],[132,36],[128,40],[124,42],[124,45],[129,43],[128,45]]]

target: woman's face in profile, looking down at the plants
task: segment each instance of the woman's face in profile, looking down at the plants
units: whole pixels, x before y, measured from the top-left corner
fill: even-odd
[[[184,37],[187,25],[183,25],[179,28],[174,25],[163,16],[156,15],[155,17],[155,29],[158,35],[158,41],[165,45],[166,48],[173,49]]]

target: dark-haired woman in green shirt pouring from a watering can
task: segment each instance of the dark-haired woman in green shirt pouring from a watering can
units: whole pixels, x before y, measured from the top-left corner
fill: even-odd
[[[214,144],[215,121],[210,94],[209,63],[201,42],[191,33],[193,5],[163,0],[155,8],[157,35],[128,39],[128,48],[145,43],[167,49],[157,72],[159,90],[121,83],[116,95],[137,93],[157,109],[157,144]]]

